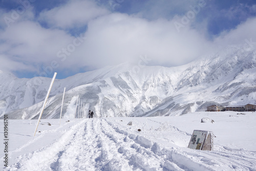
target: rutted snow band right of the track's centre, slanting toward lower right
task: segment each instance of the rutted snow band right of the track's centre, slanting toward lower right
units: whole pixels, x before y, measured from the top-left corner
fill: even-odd
[[[188,170],[176,163],[165,160],[165,155],[158,155],[159,146],[141,136],[120,130],[111,122],[104,121],[104,133],[116,143],[118,152],[125,156],[133,165],[133,169],[141,170]],[[155,151],[155,152],[154,152]]]

